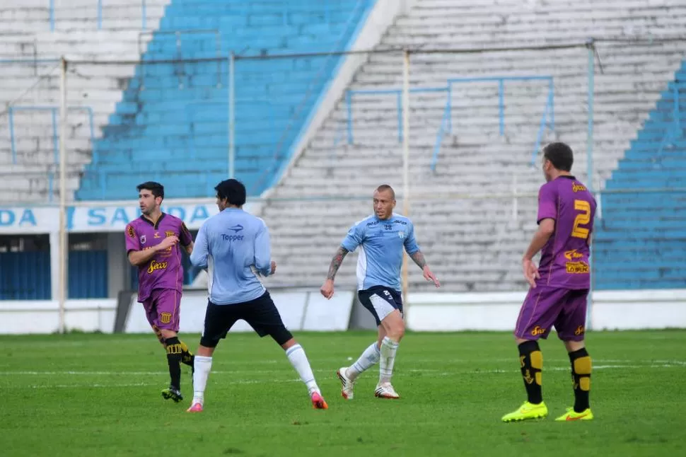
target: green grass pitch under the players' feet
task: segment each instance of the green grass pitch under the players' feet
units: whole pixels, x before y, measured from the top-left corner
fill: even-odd
[[[296,335],[329,410],[269,338],[229,335],[214,357],[205,412],[184,366],[179,404],[153,335],[0,337],[0,455],[8,456],[656,456],[686,455],[686,331],[591,332],[591,422],[554,422],[572,405],[569,359],[542,342],[550,416],[503,424],[524,399],[506,333],[408,334],[395,366],[402,398],[373,396],[378,369],[355,399],[335,371],[374,339],[369,332]],[[197,335],[182,335],[192,348]]]

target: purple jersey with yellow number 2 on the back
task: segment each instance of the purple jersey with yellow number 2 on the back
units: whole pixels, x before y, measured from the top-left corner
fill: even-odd
[[[537,222],[554,219],[555,231],[541,250],[537,287],[591,287],[588,255],[594,216],[595,199],[574,176],[560,176],[541,186]]]

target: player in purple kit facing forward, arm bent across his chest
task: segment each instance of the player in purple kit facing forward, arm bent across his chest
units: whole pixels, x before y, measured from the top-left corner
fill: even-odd
[[[138,267],[138,301],[167,352],[171,382],[162,396],[178,403],[183,400],[180,364],[193,366],[193,354],[178,338],[183,286],[179,245],[190,254],[193,238],[181,219],[161,211],[161,184],[143,183],[137,189],[143,214],[126,227],[127,256],[131,265]]]

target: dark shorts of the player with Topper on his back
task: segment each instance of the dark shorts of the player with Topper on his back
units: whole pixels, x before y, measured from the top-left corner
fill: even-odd
[[[260,337],[269,335],[279,345],[283,345],[293,337],[281,320],[279,310],[274,305],[269,292],[265,291],[255,300],[231,305],[216,305],[208,300],[200,345],[216,347],[219,340],[226,338],[228,330],[231,330],[233,324],[240,319],[245,320],[257,332],[257,335]]]

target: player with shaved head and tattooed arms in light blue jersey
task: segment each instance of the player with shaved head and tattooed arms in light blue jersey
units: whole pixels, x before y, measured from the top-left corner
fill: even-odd
[[[373,342],[351,366],[337,371],[341,380],[341,395],[352,400],[356,378],[373,364],[379,364],[379,382],[374,395],[378,398],[400,398],[390,380],[393,376],[395,353],[405,323],[402,320],[400,268],[402,250],[424,271],[424,278],[440,287],[438,279],[426,265],[424,255],[414,239],[414,226],[405,216],[393,213],[395,192],[390,185],[380,185],[374,191],[374,214],[350,228],[331,261],[329,274],[322,286],[322,295],[330,299],[334,294],[334,277],[345,255],[360,248],[357,261],[357,289],[362,305],[378,325],[378,340]]]

